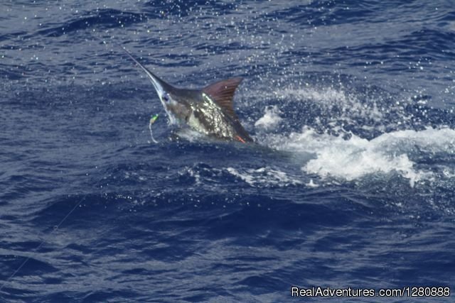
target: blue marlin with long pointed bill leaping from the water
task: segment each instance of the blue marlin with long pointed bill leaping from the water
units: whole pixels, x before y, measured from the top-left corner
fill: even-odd
[[[224,141],[253,141],[240,124],[232,104],[242,78],[221,80],[203,89],[181,89],[164,82],[124,51],[149,77],[171,124],[189,126],[205,136]]]

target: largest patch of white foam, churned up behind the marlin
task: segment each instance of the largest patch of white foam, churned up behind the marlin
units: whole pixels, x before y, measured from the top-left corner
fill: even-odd
[[[399,172],[410,180],[410,185],[434,177],[432,172],[417,170],[411,160],[417,153],[449,152],[455,150],[455,130],[427,128],[424,131],[394,131],[373,140],[352,135],[348,140],[341,136],[316,133],[303,128],[289,136],[269,136],[267,145],[278,150],[296,153],[313,153],[301,169],[321,177],[355,180],[375,173]]]

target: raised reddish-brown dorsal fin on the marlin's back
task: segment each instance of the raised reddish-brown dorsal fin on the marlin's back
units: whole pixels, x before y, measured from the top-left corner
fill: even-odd
[[[208,85],[202,92],[213,98],[213,101],[215,101],[228,116],[232,119],[237,119],[232,100],[234,99],[235,89],[240,82],[242,82],[242,78],[221,80]]]

